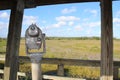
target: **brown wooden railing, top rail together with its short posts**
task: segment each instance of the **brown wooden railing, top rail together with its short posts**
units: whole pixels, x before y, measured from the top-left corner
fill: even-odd
[[[4,60],[5,59],[3,57],[0,57],[0,61],[4,61]],[[19,62],[30,63],[30,58],[26,56],[20,56]],[[64,76],[64,65],[100,67],[100,60],[43,58],[41,63],[58,65],[57,75],[59,76]],[[119,67],[120,67],[120,61],[114,61],[115,79],[118,79]]]

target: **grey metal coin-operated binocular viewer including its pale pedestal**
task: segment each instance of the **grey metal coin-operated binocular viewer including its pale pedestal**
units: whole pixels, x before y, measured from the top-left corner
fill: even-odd
[[[40,61],[46,52],[45,34],[42,33],[36,24],[30,25],[26,30],[25,44],[26,54],[30,57],[32,63],[32,80],[42,80]]]

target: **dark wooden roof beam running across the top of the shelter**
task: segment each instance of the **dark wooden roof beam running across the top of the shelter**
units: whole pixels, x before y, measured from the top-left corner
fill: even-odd
[[[11,9],[15,0],[0,0],[0,10]],[[67,3],[81,3],[81,2],[99,2],[100,0],[24,0],[25,8],[34,8],[43,5],[67,4]],[[119,1],[119,0],[113,0]]]

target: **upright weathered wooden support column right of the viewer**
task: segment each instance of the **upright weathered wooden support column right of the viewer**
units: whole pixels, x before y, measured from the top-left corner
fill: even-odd
[[[101,77],[113,80],[112,0],[101,1]]]

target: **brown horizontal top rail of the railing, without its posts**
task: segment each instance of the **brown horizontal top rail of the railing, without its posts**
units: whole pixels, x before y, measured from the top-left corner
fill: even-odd
[[[4,61],[4,57],[0,57],[0,61]],[[30,58],[19,56],[19,62],[30,63]],[[43,58],[43,64],[63,64],[63,65],[78,65],[78,66],[100,66],[100,60],[80,60],[80,59],[59,59],[59,58]],[[120,66],[120,61],[114,61],[114,66]]]

